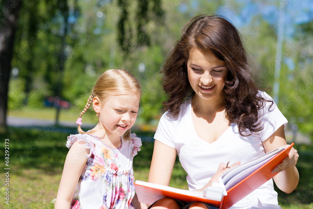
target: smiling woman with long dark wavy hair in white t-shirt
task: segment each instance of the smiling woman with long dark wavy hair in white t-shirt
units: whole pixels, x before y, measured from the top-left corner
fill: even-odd
[[[217,15],[192,18],[162,69],[169,95],[154,136],[149,182],[169,185],[176,154],[190,190],[203,190],[229,168],[286,144],[286,118],[272,98],[256,87],[237,29]],[[299,155],[292,149],[276,166],[274,181],[286,193],[295,189]],[[170,198],[157,208],[213,208]],[[273,180],[231,208],[280,208]]]

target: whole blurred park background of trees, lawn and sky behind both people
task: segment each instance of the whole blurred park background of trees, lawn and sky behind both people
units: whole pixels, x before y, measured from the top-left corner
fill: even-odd
[[[1,208],[54,208],[76,119],[98,76],[124,67],[142,84],[142,138],[135,179],[147,180],[153,134],[166,95],[159,72],[193,16],[217,13],[242,34],[254,79],[288,119],[300,157],[300,183],[279,193],[282,208],[313,208],[313,1],[303,0],[0,0]],[[97,123],[83,116],[83,128]],[[5,166],[9,139],[9,166]],[[5,204],[10,168],[9,205]],[[187,189],[175,164],[171,186]]]

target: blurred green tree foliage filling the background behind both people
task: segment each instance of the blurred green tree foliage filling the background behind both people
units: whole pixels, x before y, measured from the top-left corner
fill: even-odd
[[[249,13],[245,3],[231,0],[23,1],[12,60],[19,75],[10,84],[9,112],[27,100],[36,85],[43,87],[28,105],[39,108],[45,97],[59,95],[79,111],[103,71],[125,67],[141,81],[139,121],[155,123],[166,100],[159,72],[184,24],[202,13],[230,17],[251,55],[255,81],[261,88],[273,87],[280,61],[275,60],[277,20],[264,18],[258,8],[275,4],[252,1],[248,6]],[[301,132],[312,135],[312,23],[288,24],[288,28],[295,32],[286,34],[283,42],[278,107],[288,120],[296,118]],[[141,63],[144,72],[138,69]]]

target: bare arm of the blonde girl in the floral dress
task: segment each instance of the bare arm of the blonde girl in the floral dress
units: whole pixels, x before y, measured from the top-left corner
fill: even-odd
[[[70,208],[76,185],[87,162],[87,154],[89,153],[87,152],[85,145],[77,141],[74,142],[69,149],[54,205],[55,209]]]

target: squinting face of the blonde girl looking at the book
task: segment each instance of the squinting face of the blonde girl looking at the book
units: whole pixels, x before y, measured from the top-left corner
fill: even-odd
[[[139,100],[140,96],[135,93],[109,96],[105,104],[100,107],[99,112],[99,123],[101,127],[105,128],[106,134],[122,136],[134,125],[139,109]]]

